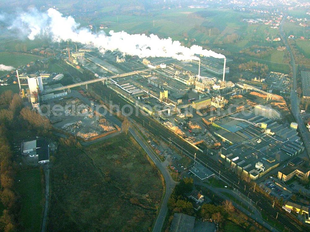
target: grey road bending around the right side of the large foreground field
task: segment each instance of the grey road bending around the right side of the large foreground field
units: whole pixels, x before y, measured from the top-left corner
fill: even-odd
[[[154,227],[153,227],[153,232],[160,232],[160,231],[162,231],[162,226],[164,224],[166,214],[168,212],[168,206],[167,206],[168,199],[169,199],[169,197],[172,193],[172,190],[175,187],[177,182],[172,180],[170,174],[166,170],[166,167],[164,167],[162,165],[162,163],[157,159],[157,157],[153,153],[153,150],[151,150],[149,145],[143,139],[140,138],[138,133],[132,128],[129,128],[129,132],[132,134],[132,136],[135,138],[135,140],[140,144],[140,146],[144,149],[144,151],[148,154],[148,156],[153,160],[154,164],[160,170],[160,172],[162,173],[162,175],[165,179],[166,192],[165,192],[164,199],[162,200],[162,205],[161,205],[161,208],[158,212],[158,215],[157,215],[156,221],[154,223]]]

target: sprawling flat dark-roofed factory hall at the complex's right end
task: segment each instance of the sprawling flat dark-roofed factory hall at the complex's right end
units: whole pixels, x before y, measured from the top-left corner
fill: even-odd
[[[257,178],[304,151],[298,133],[272,119],[245,111],[212,122],[215,135],[230,144],[220,156],[236,172]]]

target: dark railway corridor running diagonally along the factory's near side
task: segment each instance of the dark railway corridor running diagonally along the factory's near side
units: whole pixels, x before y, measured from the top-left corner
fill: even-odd
[[[104,88],[106,88],[104,86]],[[108,89],[108,88],[107,88]],[[109,90],[109,89],[108,89]],[[101,90],[100,90],[101,92]],[[119,103],[119,106],[122,107],[125,104],[128,104],[126,100],[119,97],[113,91],[110,90],[111,93],[111,100]],[[114,102],[114,103],[115,103]],[[189,158],[194,159],[194,154],[196,153],[196,160],[204,166],[207,166],[208,169],[211,169],[214,173],[219,174],[219,176],[224,179],[226,182],[230,183],[230,186],[234,186],[237,188],[238,191],[243,193],[244,195],[248,194],[249,199],[252,199],[253,202],[257,202],[257,207],[261,208],[263,213],[268,214],[269,218],[279,221],[282,225],[284,225],[289,231],[302,231],[308,232],[308,229],[303,226],[299,225],[294,221],[288,220],[286,215],[280,212],[280,208],[272,208],[272,202],[270,199],[266,198],[265,196],[253,192],[253,185],[243,181],[241,178],[237,177],[235,173],[229,171],[229,169],[225,169],[222,164],[215,163],[210,157],[207,157],[204,153],[197,151],[194,147],[188,145],[187,142],[183,141],[181,138],[177,137],[173,132],[166,129],[161,124],[157,123],[155,120],[148,116],[139,114],[139,116],[132,114],[131,118],[134,119],[137,123],[150,131],[154,136],[158,136],[162,138],[167,143],[173,144],[179,151],[182,151],[184,155],[187,155]],[[236,184],[238,183],[239,184]],[[244,188],[245,187],[245,188]],[[259,186],[257,186],[259,187]],[[245,190],[246,189],[246,190]],[[279,212],[278,216],[277,213]],[[277,217],[277,219],[276,219]]]

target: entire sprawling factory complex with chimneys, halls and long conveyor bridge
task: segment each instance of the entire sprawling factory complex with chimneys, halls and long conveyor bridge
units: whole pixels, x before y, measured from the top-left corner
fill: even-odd
[[[101,82],[190,146],[200,151],[219,149],[216,160],[252,180],[304,150],[297,132],[298,125],[294,122],[290,125],[278,123],[281,114],[264,106],[270,100],[277,101],[278,95],[225,80],[228,66],[233,62],[231,59],[199,54],[184,61],[161,57],[140,59],[119,52],[102,54],[95,46],[87,45],[69,53],[65,61],[74,68],[82,67],[93,72],[96,79],[63,86],[59,83],[64,79],[61,73],[17,72],[19,84],[22,81],[28,83],[26,90],[20,85],[20,92],[23,97],[28,97],[33,109],[40,111],[40,103],[70,96],[74,87],[85,86],[87,89],[87,85]],[[250,101],[243,95],[251,91],[265,97]],[[74,95],[75,103],[86,103],[78,98]],[[63,101],[68,103],[72,99]],[[87,119],[85,115],[71,112],[69,118],[53,117],[51,120],[58,129],[86,140],[119,130],[117,125],[103,117],[93,119],[91,108],[86,104],[82,111],[86,112]],[[214,112],[217,113],[212,115]]]

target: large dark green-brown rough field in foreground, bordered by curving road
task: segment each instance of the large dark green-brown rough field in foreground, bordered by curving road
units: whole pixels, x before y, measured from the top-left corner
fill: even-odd
[[[156,168],[124,133],[82,150],[60,145],[48,231],[148,231],[162,197]]]

